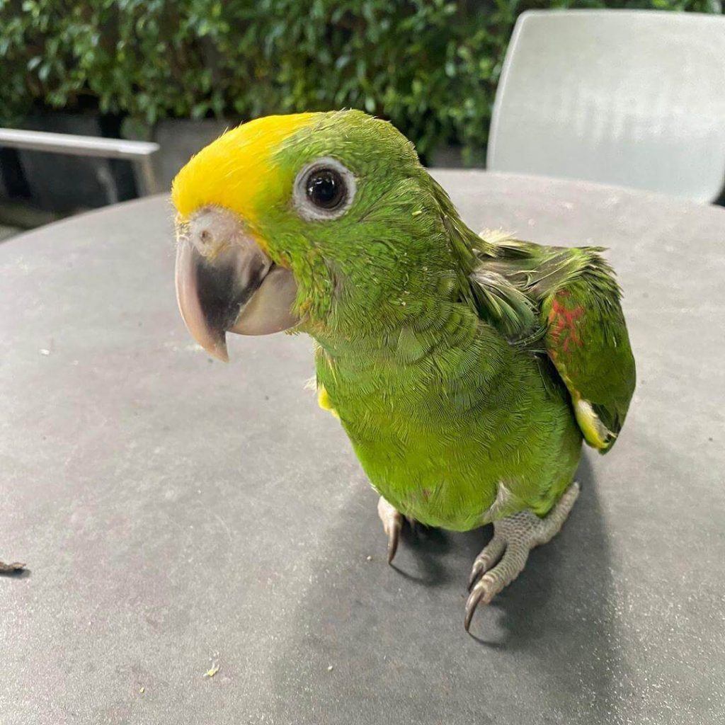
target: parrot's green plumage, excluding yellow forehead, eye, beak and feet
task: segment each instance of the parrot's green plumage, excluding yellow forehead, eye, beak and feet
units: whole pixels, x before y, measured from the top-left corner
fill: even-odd
[[[373,486],[449,529],[544,515],[581,455],[574,398],[616,434],[634,386],[608,266],[596,249],[481,239],[413,146],[361,112],[320,114],[276,163],[294,175],[320,157],[355,175],[349,210],[310,221],[283,203],[258,225],[294,272],[318,387]],[[566,355],[550,324],[565,302],[587,310]]]

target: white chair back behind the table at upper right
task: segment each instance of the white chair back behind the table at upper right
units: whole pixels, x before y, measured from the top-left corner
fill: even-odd
[[[725,17],[523,13],[487,166],[712,202],[725,186]]]

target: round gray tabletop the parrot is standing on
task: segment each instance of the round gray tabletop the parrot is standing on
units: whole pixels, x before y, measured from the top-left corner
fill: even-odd
[[[385,563],[311,344],[189,338],[165,198],[0,245],[0,723],[724,721],[725,211],[439,172],[474,227],[603,244],[639,387],[562,534],[463,630],[488,529]],[[213,677],[204,673],[219,668]]]

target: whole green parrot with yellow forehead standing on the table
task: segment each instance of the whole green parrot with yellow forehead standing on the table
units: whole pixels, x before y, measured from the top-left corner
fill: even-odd
[[[464,626],[560,531],[582,442],[615,444],[635,386],[602,247],[476,233],[415,146],[355,109],[225,131],[172,184],[189,333],[315,341],[318,404],[379,494],[388,561],[403,521],[492,524]]]

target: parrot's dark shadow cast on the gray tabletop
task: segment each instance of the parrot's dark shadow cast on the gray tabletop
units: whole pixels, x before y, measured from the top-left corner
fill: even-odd
[[[549,712],[612,722],[622,663],[610,552],[586,458],[577,478],[582,494],[562,533],[479,608],[475,639],[463,629],[465,583],[492,527],[407,531],[395,571],[375,497],[356,493],[282,635],[273,674],[280,720],[317,723],[325,712],[323,721],[337,722],[355,712],[361,724],[396,713],[399,722],[506,725]]]

